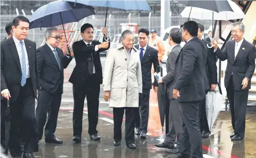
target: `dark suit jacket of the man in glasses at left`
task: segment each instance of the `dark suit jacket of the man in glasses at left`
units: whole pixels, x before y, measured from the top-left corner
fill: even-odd
[[[61,90],[63,93],[63,68],[67,68],[72,57],[69,58],[63,54],[60,48],[56,48],[60,58],[60,68],[56,57],[48,44],[44,44],[36,50],[38,59],[38,70],[40,75],[40,90],[54,93]]]

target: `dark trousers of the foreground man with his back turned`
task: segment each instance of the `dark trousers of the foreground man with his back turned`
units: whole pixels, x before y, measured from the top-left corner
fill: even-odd
[[[203,158],[202,139],[198,123],[201,101],[179,102],[183,132],[180,133],[179,152],[187,157]]]

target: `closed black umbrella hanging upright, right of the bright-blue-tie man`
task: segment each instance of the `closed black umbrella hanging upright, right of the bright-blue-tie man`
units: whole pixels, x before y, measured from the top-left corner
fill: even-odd
[[[161,66],[157,67],[156,72],[161,72],[161,77],[163,76],[163,70]],[[167,85],[166,84],[159,84],[158,85],[158,91],[157,91],[157,100],[158,100],[158,107],[159,107],[159,114],[160,114],[160,120],[161,120],[161,126],[163,131],[163,125],[164,125],[164,118],[166,115],[166,94],[167,93]]]

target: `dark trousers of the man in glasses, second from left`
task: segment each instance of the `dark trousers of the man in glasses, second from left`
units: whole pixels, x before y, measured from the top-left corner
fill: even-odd
[[[38,91],[38,106],[36,106],[35,117],[38,126],[38,139],[41,140],[43,136],[43,127],[45,139],[53,139],[57,127],[57,120],[59,115],[61,103],[61,91],[56,93],[48,93],[46,91]]]

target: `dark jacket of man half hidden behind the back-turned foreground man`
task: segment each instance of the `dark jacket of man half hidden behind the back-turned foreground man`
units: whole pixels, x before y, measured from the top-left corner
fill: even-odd
[[[205,46],[207,44],[211,46],[211,43],[202,40],[205,43]],[[205,72],[208,79],[208,84],[211,87],[211,84],[217,84],[217,66],[216,66],[216,56],[214,54],[214,48],[207,48],[207,60],[205,64]]]

